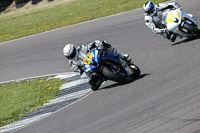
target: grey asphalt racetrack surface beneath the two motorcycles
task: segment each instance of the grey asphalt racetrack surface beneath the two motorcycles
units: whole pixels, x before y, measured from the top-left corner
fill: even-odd
[[[199,0],[177,0],[200,22]],[[107,40],[129,53],[140,79],[107,82],[17,133],[200,132],[200,39],[171,43],[144,26],[142,9],[0,44],[0,81],[71,71],[66,43]]]

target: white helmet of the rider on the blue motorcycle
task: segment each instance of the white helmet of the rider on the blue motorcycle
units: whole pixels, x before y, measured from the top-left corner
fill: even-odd
[[[69,60],[75,60],[77,57],[77,49],[73,44],[67,44],[63,48],[63,54]]]

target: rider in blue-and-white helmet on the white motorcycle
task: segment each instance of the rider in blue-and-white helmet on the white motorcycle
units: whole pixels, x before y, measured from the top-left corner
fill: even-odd
[[[181,8],[175,2],[170,2],[167,4],[154,4],[152,1],[148,1],[143,5],[145,12],[145,25],[147,25],[154,33],[161,34],[164,38],[169,39],[171,42],[176,40],[177,35],[169,32],[166,29],[165,18],[169,9]]]

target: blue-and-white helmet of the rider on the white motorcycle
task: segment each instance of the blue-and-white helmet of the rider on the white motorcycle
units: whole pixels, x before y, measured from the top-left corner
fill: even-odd
[[[154,16],[156,14],[156,8],[152,1],[144,3],[143,9],[146,14],[149,14],[151,16]]]

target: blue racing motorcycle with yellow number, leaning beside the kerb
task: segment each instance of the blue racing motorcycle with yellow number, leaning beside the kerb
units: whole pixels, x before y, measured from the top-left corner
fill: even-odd
[[[93,73],[93,81],[99,78],[119,83],[129,83],[140,76],[140,69],[134,63],[128,63],[111,52],[101,51],[97,48],[89,51],[83,58],[84,71]],[[94,82],[95,83],[95,82]],[[100,85],[91,85],[97,90]]]

